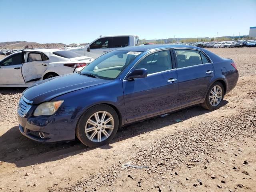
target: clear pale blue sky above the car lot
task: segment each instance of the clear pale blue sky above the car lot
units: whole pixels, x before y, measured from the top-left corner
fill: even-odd
[[[0,18],[0,42],[247,35],[256,26],[256,0],[0,0]]]

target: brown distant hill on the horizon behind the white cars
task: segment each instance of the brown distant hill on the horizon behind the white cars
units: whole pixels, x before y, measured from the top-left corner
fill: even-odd
[[[26,41],[0,42],[0,49],[59,48],[64,46],[66,46],[66,44],[64,43],[40,44],[36,42],[26,42]]]

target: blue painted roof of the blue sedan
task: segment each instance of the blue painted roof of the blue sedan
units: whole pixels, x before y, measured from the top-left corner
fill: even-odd
[[[147,50],[151,50],[151,49],[161,49],[161,48],[196,48],[196,49],[200,49],[199,47],[195,47],[195,46],[189,46],[189,45],[180,45],[180,44],[154,44],[154,45],[141,45],[141,46],[131,46],[131,47],[124,47],[124,48],[119,48],[116,50],[122,50],[122,51],[140,51],[140,52],[144,52]]]

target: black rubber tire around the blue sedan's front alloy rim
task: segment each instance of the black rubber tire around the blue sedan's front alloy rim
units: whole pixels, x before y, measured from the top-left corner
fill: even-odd
[[[104,140],[102,142],[93,142],[86,136],[85,126],[86,126],[87,120],[94,113],[99,112],[99,111],[106,111],[112,115],[112,117],[114,119],[114,129],[113,129],[112,133],[110,134],[110,136],[108,138],[106,138],[106,140]],[[86,112],[84,112],[84,114],[82,114],[82,116],[78,120],[78,123],[76,125],[76,137],[84,145],[86,145],[88,147],[98,147],[98,146],[109,143],[114,138],[114,136],[116,135],[116,132],[118,130],[118,126],[119,126],[118,115],[112,107],[110,107],[109,105],[106,105],[106,104],[96,105],[96,106],[93,106],[90,109],[88,109]]]

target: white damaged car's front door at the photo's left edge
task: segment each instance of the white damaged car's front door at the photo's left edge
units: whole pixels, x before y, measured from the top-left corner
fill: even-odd
[[[1,85],[20,85],[24,84],[21,73],[22,53],[9,56],[0,64],[0,84]]]

